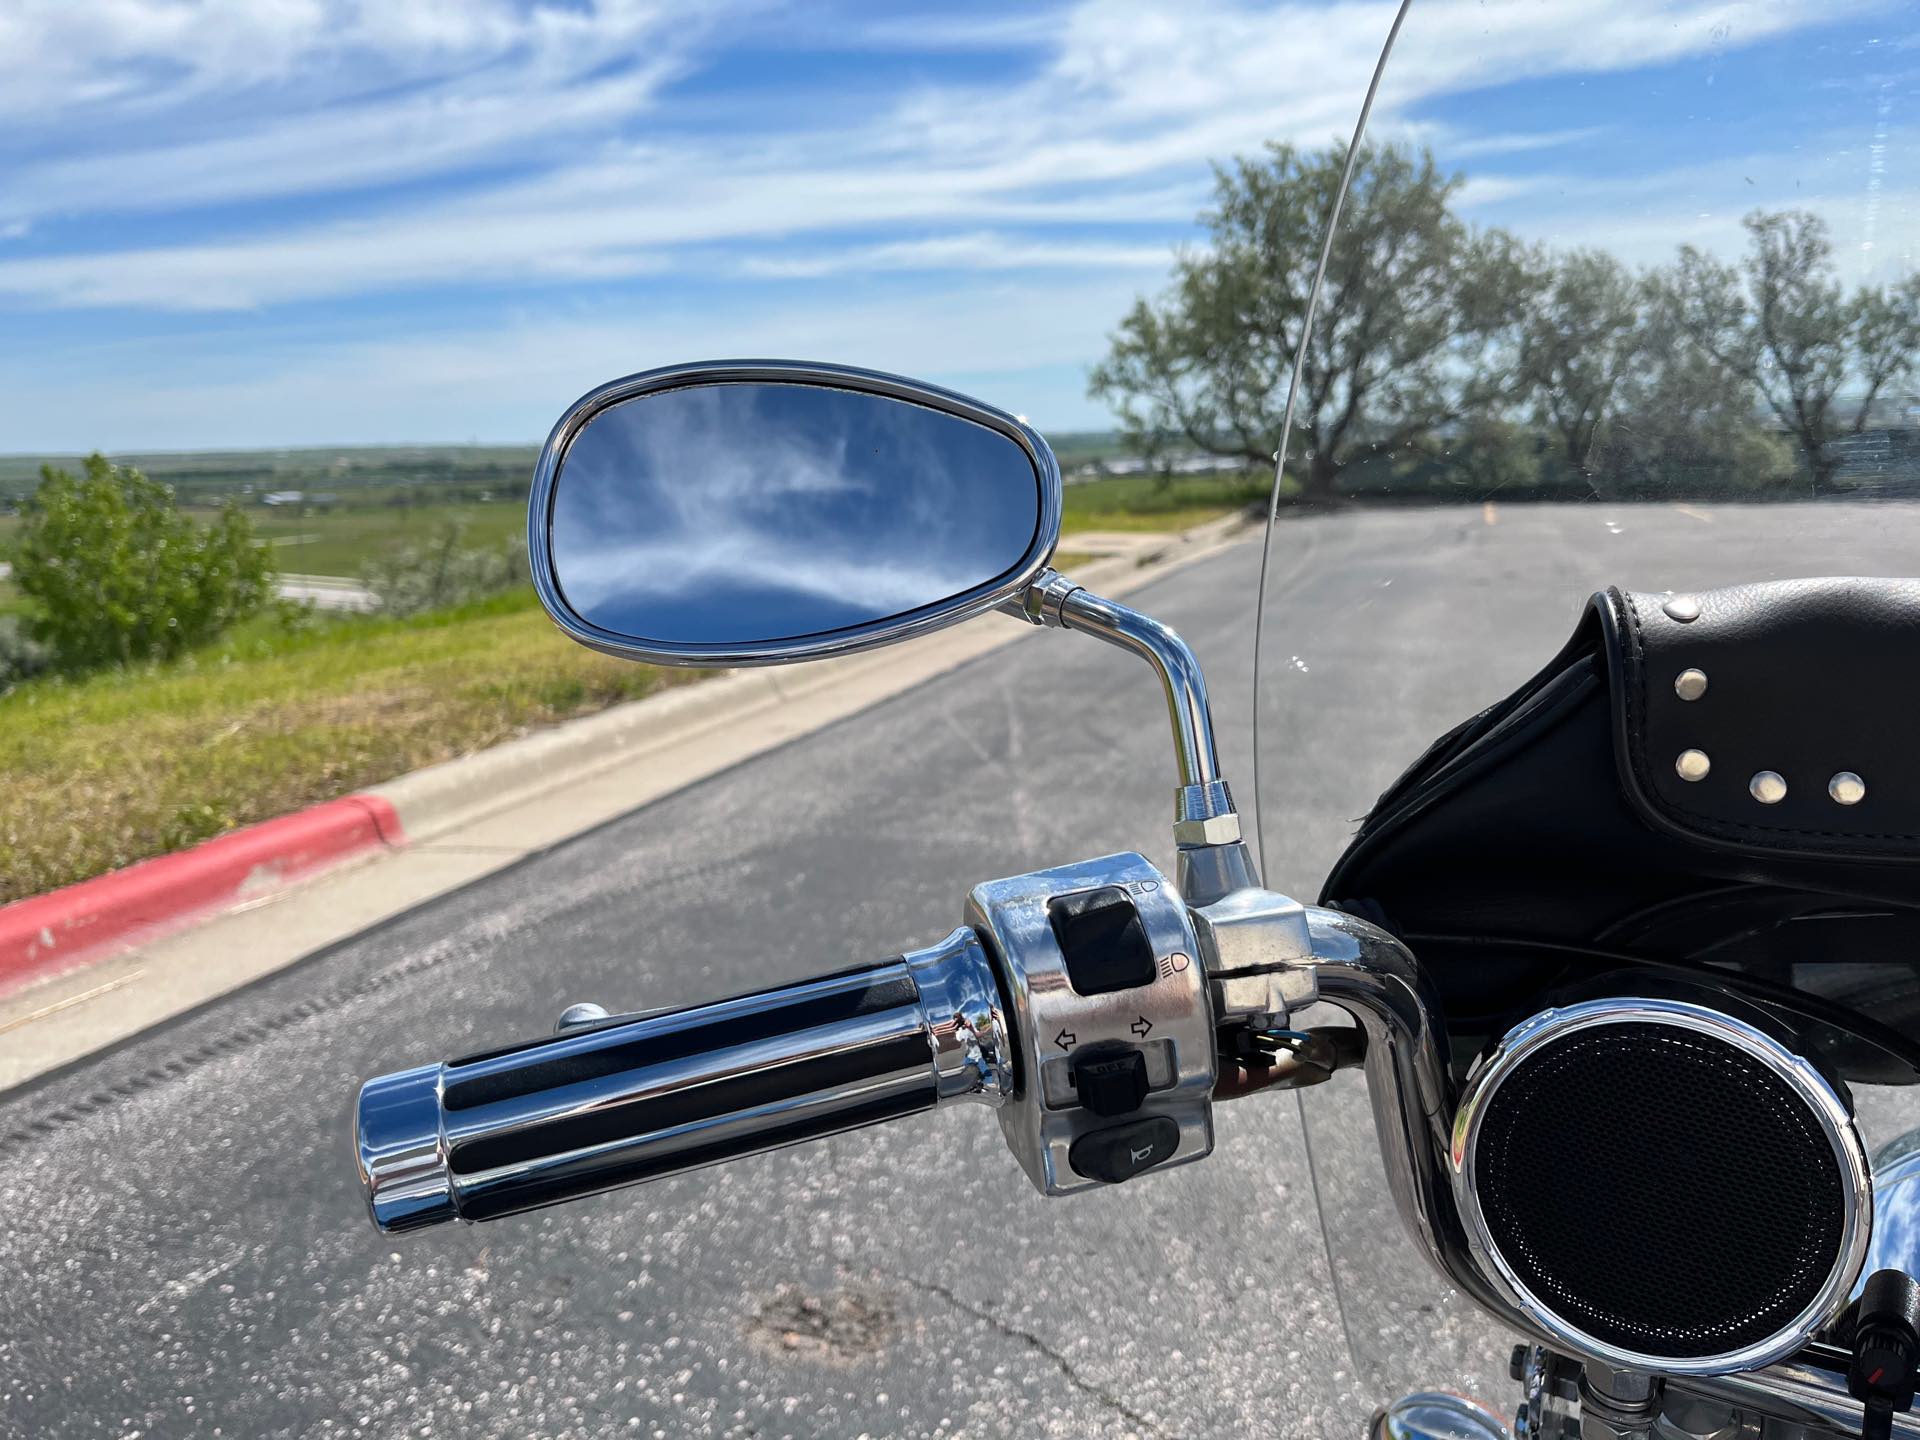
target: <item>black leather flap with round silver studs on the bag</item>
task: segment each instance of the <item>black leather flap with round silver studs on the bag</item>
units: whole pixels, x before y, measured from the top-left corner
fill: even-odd
[[[1607,589],[1594,607],[1620,778],[1649,824],[1755,854],[1920,860],[1920,582]]]

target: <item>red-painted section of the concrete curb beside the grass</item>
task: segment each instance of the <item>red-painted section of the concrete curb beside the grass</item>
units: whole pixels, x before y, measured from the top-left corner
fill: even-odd
[[[180,929],[196,916],[276,891],[348,856],[403,845],[378,795],[348,795],[0,906],[0,995]]]

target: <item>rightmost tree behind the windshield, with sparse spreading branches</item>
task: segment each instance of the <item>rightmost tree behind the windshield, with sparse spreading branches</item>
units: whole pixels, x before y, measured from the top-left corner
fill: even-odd
[[[1874,399],[1914,372],[1920,276],[1847,296],[1826,221],[1805,209],[1753,211],[1736,267],[1682,248],[1676,294],[1688,334],[1751,382],[1812,474],[1832,490],[1834,442],[1866,428]],[[1841,390],[1853,396],[1841,401]]]

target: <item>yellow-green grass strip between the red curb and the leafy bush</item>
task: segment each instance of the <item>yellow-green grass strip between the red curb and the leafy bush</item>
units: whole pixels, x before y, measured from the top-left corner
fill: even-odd
[[[0,904],[695,676],[582,649],[513,591],[29,682],[0,695]]]

